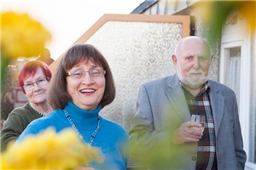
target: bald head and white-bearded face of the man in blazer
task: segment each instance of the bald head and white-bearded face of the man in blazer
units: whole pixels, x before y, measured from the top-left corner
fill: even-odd
[[[181,82],[191,89],[201,88],[207,82],[211,53],[207,42],[199,37],[187,37],[177,46],[172,61]]]

